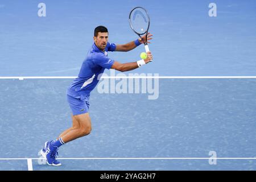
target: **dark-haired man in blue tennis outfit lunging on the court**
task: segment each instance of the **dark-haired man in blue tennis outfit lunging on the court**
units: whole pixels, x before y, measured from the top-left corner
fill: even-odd
[[[140,44],[146,43],[146,40],[152,39],[152,34],[148,33],[141,39],[122,45],[108,43],[108,35],[106,27],[98,26],[95,28],[94,44],[82,63],[79,76],[75,78],[67,90],[67,100],[73,113],[73,126],[61,133],[56,140],[44,143],[40,152],[50,166],[61,166],[61,163],[56,160],[57,150],[60,146],[90,134],[92,124],[89,116],[89,96],[100,80],[104,69],[112,68],[121,72],[131,71],[153,59],[151,52],[147,52],[146,59],[130,63],[119,63],[108,58],[108,51],[131,51]]]

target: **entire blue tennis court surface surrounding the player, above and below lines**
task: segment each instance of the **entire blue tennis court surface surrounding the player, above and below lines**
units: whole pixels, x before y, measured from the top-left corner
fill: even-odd
[[[38,3],[47,6],[39,18]],[[217,17],[208,5],[217,4]],[[160,76],[255,76],[255,1],[0,1],[0,76],[77,76],[93,30],[109,42],[137,39],[129,11],[143,6],[154,34],[154,62],[129,73]],[[113,52],[122,63],[143,46]],[[109,71],[106,71],[109,73]],[[45,140],[71,126],[65,92],[71,79],[0,80],[0,158],[36,158]],[[159,80],[158,100],[147,94],[90,97],[93,131],[65,144],[61,158],[254,157],[254,79]],[[36,170],[255,170],[255,160],[63,160]],[[2,170],[27,170],[25,161],[1,161]]]

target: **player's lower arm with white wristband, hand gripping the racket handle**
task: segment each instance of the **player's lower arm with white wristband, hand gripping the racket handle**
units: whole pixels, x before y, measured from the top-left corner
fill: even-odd
[[[147,52],[147,58],[146,59],[142,59],[136,62],[130,62],[130,63],[119,63],[118,61],[114,61],[114,64],[112,65],[112,69],[121,71],[121,72],[127,72],[127,71],[131,71],[133,69],[139,68],[144,64],[147,64],[150,62],[150,60],[153,59],[153,56],[151,54],[151,52]]]

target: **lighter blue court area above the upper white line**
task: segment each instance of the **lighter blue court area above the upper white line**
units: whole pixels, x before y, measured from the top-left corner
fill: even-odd
[[[38,3],[47,6],[39,18]],[[143,6],[151,18],[155,64],[133,72],[164,76],[255,75],[255,1],[1,1],[1,76],[76,76],[93,43],[93,30],[109,29],[109,42],[137,39],[130,10]],[[112,59],[139,59],[141,46]]]

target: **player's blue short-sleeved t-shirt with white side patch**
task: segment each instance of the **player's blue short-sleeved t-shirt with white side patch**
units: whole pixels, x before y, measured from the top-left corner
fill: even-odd
[[[108,58],[108,51],[115,51],[115,48],[115,44],[108,43],[103,52],[94,43],[82,63],[79,76],[69,86],[67,94],[71,96],[89,95],[100,81],[100,74],[104,72],[104,69],[110,69],[114,64],[114,60]]]

